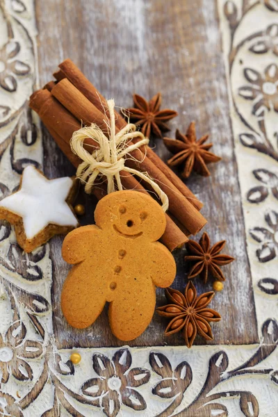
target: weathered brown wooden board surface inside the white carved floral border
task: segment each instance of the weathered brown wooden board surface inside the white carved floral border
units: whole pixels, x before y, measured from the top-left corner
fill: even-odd
[[[229,122],[229,104],[218,17],[213,1],[74,0],[36,1],[40,85],[63,59],[70,57],[101,91],[114,97],[118,106],[131,106],[133,92],[149,99],[163,94],[163,106],[179,112],[170,126],[185,132],[197,122],[197,133],[209,132],[213,151],[223,161],[211,165],[211,177],[193,175],[187,185],[204,202],[202,214],[208,219],[206,231],[213,243],[227,239],[227,253],[236,262],[223,268],[227,281],[215,295],[211,308],[222,321],[213,325],[214,344],[248,344],[258,341],[250,267],[245,249],[245,230],[240,202],[234,143]],[[161,140],[152,143],[156,152],[170,154]],[[49,177],[71,175],[74,170],[44,131],[44,170]],[[91,222],[93,197],[84,197]],[[197,237],[199,238],[201,234]],[[60,257],[62,238],[51,240],[54,261],[54,332],[58,347],[122,345],[111,335],[104,311],[95,325],[86,330],[72,329],[60,312],[60,291],[69,266]],[[225,251],[224,251],[225,252]],[[186,275],[183,251],[176,253],[178,275],[174,288],[183,291]],[[199,293],[209,291],[195,281]],[[165,302],[163,290],[157,302]],[[182,345],[181,335],[165,339],[163,318],[154,319],[142,336],[130,345]],[[204,343],[197,339],[197,343]]]

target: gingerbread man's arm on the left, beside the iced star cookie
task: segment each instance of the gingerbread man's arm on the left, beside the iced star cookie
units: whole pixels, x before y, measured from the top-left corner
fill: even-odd
[[[62,246],[62,256],[67,263],[84,261],[88,252],[95,247],[99,240],[101,229],[95,224],[74,229],[65,237]]]

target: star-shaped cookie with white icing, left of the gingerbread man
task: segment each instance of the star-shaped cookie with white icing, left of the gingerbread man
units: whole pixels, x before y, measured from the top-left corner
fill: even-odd
[[[17,243],[32,252],[56,234],[66,234],[79,225],[72,207],[76,181],[70,177],[47,179],[29,165],[19,190],[0,202],[0,219],[15,225]]]

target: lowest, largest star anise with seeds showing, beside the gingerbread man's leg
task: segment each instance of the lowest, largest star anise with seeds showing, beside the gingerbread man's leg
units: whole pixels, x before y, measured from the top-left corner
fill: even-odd
[[[183,330],[187,347],[193,345],[197,333],[208,341],[213,340],[209,322],[221,320],[217,311],[206,309],[213,298],[213,291],[197,297],[196,288],[192,281],[189,281],[184,295],[173,288],[166,288],[165,295],[170,304],[156,309],[160,316],[172,319],[165,329],[165,336]]]

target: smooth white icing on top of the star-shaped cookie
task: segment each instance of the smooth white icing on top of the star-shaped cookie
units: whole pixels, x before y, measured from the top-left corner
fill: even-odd
[[[0,207],[22,218],[27,239],[48,224],[77,227],[78,221],[66,202],[72,186],[70,177],[49,180],[30,165],[24,169],[19,191],[4,198]]]

